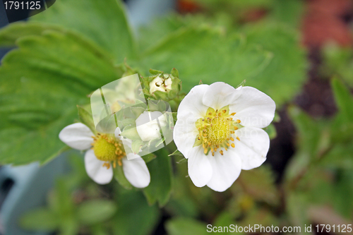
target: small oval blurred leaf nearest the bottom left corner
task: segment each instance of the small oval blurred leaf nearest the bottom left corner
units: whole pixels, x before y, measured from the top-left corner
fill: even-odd
[[[53,231],[59,227],[59,219],[47,208],[37,208],[20,217],[20,227],[31,231]]]

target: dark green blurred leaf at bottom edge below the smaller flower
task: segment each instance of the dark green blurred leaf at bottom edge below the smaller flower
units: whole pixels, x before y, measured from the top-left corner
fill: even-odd
[[[116,203],[119,208],[116,216],[112,219],[113,234],[152,234],[160,217],[156,205],[149,206],[143,194],[139,191],[122,193],[117,198]]]

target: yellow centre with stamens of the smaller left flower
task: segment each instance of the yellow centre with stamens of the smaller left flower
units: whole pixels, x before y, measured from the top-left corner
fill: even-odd
[[[92,136],[93,143],[92,149],[95,152],[95,157],[104,161],[103,167],[110,168],[110,164],[116,167],[116,162],[121,166],[121,159],[126,156],[124,147],[120,140],[116,140],[114,137],[98,133],[96,136]]]

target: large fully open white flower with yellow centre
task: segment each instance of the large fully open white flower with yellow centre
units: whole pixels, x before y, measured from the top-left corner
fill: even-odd
[[[261,128],[274,116],[275,102],[255,88],[219,82],[191,89],[179,106],[173,135],[193,183],[225,191],[241,169],[261,166],[270,147]]]

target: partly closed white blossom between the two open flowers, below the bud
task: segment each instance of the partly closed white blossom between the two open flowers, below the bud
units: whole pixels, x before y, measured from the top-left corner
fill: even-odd
[[[157,119],[160,126],[158,126]],[[158,111],[145,111],[136,119],[136,130],[143,141],[162,138],[160,135],[160,127],[162,128],[162,126],[166,125],[167,120],[165,119],[165,116]]]

